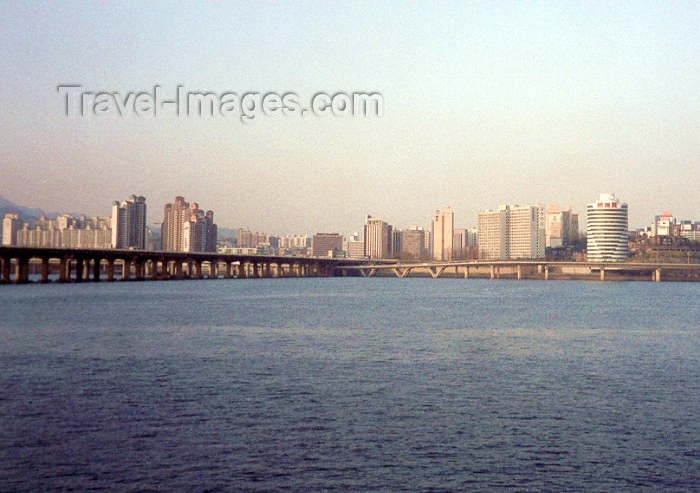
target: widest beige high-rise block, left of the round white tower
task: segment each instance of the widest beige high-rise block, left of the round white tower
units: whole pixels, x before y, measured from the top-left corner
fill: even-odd
[[[479,258],[535,259],[545,254],[544,208],[502,205],[479,213]]]

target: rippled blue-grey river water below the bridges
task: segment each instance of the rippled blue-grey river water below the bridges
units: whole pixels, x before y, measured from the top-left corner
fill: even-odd
[[[0,287],[2,491],[699,485],[699,284]]]

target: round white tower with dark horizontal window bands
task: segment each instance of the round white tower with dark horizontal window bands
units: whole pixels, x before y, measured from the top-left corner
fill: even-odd
[[[587,256],[591,262],[624,262],[629,254],[627,204],[601,193],[587,206]]]

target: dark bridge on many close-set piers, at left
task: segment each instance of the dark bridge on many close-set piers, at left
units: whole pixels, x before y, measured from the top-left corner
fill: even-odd
[[[277,255],[0,247],[0,283],[324,277],[368,260]],[[373,261],[375,263],[376,261]]]

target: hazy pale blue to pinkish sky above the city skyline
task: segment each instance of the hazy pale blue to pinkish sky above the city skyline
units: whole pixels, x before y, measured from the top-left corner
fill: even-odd
[[[700,2],[0,3],[0,195],[108,215],[184,195],[221,226],[456,226],[612,191],[630,226],[700,220]],[[376,91],[385,116],[68,118],[93,91]]]

